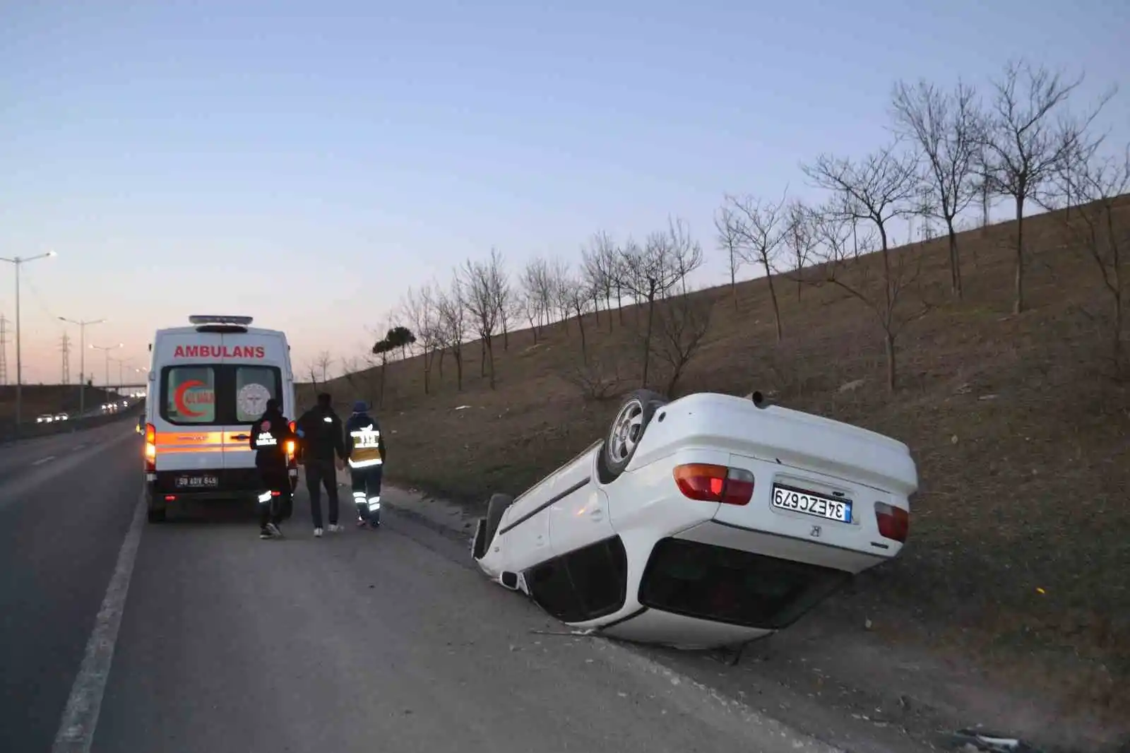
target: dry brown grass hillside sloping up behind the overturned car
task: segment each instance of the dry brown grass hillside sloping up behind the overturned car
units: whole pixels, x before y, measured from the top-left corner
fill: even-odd
[[[1130,226],[1130,201],[1120,222]],[[1107,378],[1107,336],[1086,313],[1109,305],[1097,269],[1066,248],[1058,215],[1026,223],[1029,310],[1011,311],[1014,233],[964,233],[965,296],[950,300],[945,240],[924,246],[939,306],[898,341],[896,395],[884,387],[880,330],[834,287],[781,280],[784,341],[774,343],[764,279],[716,297],[707,343],[681,391],[776,392],[776,399],[905,441],[919,464],[904,556],[832,599],[832,618],[883,615],[893,635],[1005,667],[1111,719],[1130,718],[1130,389]],[[634,387],[625,355],[634,310],[584,318],[590,352]],[[620,320],[623,319],[623,324]],[[598,322],[599,320],[599,322]],[[597,332],[601,332],[599,336]],[[419,358],[390,364],[383,409],[390,478],[469,504],[520,492],[601,435],[615,400],[576,387],[577,324],[496,345],[497,390],[464,347],[423,390]],[[331,391],[342,405],[374,374]],[[863,380],[855,389],[847,382]],[[663,383],[657,375],[652,387]],[[308,392],[305,399],[310,399]],[[469,406],[457,410],[459,406]]]

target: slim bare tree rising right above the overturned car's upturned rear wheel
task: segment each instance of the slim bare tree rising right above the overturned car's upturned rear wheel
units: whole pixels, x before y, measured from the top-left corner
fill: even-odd
[[[643,374],[647,386],[651,364],[655,302],[666,297],[686,276],[703,262],[702,246],[692,241],[681,224],[670,223],[666,233],[652,233],[643,246],[628,240],[620,251],[620,283],[638,302],[646,302],[647,318],[641,338]]]

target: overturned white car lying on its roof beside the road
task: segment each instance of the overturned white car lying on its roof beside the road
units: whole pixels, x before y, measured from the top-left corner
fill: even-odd
[[[479,568],[577,629],[712,648],[781,630],[895,557],[918,491],[909,448],[753,398],[632,392],[606,439],[490,497]]]

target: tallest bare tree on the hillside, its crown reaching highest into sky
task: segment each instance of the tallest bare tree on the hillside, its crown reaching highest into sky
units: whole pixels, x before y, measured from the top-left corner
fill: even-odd
[[[1071,93],[1083,83],[1046,68],[1009,62],[1003,77],[993,81],[992,106],[984,146],[984,180],[989,190],[1011,197],[1016,204],[1016,287],[1014,313],[1024,311],[1024,206],[1038,196],[1069,155],[1080,149],[1086,130],[1107,94],[1087,116],[1070,119],[1062,113]],[[1054,115],[1059,115],[1053,120]]]

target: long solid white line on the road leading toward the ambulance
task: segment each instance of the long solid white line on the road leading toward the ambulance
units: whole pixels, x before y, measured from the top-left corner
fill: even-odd
[[[145,530],[145,501],[138,502],[133,511],[133,521],[118,553],[118,564],[110,578],[106,597],[94,621],[94,632],[86,643],[86,656],[79,667],[75,684],[71,685],[70,698],[63,710],[62,722],[55,734],[51,753],[87,753],[94,742],[94,730],[98,726],[98,711],[102,709],[102,694],[106,690],[110,677],[110,665],[114,658],[114,643],[118,641],[118,629],[122,624],[122,612],[125,609],[125,596],[130,589],[130,577],[133,574],[133,562],[137,559],[138,545],[141,543],[141,531]]]

